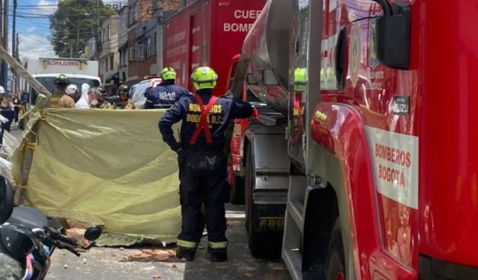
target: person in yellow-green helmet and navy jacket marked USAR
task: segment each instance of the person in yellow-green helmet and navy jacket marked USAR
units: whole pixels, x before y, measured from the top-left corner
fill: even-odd
[[[145,109],[169,108],[180,100],[182,96],[190,94],[183,87],[176,86],[176,71],[171,67],[166,67],[161,71],[163,82],[155,88],[150,88],[145,93]]]

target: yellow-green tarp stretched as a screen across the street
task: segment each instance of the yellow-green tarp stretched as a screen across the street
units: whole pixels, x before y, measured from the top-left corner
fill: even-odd
[[[158,120],[163,114],[98,109],[33,113],[27,130],[35,119],[41,125],[25,187],[29,202],[47,213],[97,216],[109,233],[101,240],[105,245],[142,238],[174,242],[181,227],[178,164],[161,140]],[[21,145],[12,157],[16,182],[20,150]]]

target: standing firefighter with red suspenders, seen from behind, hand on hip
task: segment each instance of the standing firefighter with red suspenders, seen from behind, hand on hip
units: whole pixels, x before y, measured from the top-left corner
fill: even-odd
[[[213,96],[217,75],[209,67],[196,69],[191,80],[196,94],[183,96],[159,122],[163,140],[178,153],[182,226],[177,256],[194,260],[202,237],[201,204],[204,203],[208,252],[213,262],[221,262],[227,260],[224,204],[231,192],[224,132],[230,120],[250,117],[252,107],[241,100]],[[181,143],[174,138],[172,129],[180,121]]]

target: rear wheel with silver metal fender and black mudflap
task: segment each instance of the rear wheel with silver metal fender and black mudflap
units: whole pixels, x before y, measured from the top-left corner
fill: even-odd
[[[283,126],[285,127],[285,126]],[[253,257],[278,258],[282,247],[289,187],[284,129],[250,125],[246,131],[246,228]]]

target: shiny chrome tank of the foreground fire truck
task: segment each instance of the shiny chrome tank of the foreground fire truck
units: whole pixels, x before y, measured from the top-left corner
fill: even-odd
[[[294,1],[267,1],[247,34],[241,53],[241,60],[250,62],[246,76],[249,88],[259,99],[284,114],[289,102],[291,2]]]

